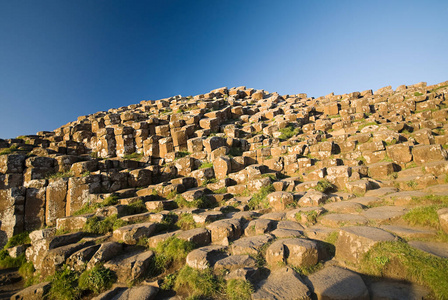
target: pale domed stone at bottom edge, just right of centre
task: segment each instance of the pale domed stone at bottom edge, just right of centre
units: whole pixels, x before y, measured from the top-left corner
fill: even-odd
[[[252,300],[311,299],[308,287],[291,268],[272,272],[258,286]]]

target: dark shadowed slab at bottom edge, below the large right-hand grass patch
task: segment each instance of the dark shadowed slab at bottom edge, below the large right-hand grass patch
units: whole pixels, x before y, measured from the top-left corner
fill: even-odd
[[[372,299],[426,299],[431,292],[428,288],[403,282],[379,281],[370,284],[370,296]]]

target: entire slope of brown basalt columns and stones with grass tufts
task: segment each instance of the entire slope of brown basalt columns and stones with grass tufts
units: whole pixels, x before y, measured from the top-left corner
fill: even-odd
[[[220,88],[0,140],[0,296],[448,298],[447,96]]]

